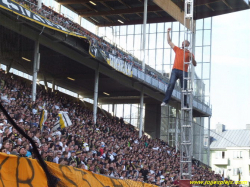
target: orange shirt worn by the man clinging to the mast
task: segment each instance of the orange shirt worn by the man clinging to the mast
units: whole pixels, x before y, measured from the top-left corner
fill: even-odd
[[[184,50],[174,46],[174,52],[175,52],[175,59],[174,59],[174,66],[173,69],[179,69],[183,71],[183,54]],[[193,56],[194,58],[194,56]],[[189,62],[189,51],[186,50],[185,52],[185,62]],[[188,64],[185,64],[185,71],[188,71]]]

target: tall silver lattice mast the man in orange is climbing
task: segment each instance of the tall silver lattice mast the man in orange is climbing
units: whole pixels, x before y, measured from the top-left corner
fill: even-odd
[[[192,53],[193,42],[193,0],[185,0],[184,9],[184,41],[190,42],[189,47],[184,46],[184,54],[189,51]],[[187,28],[189,25],[190,29]],[[183,71],[183,87],[181,96],[181,141],[180,141],[180,177],[181,180],[191,180],[192,175],[192,158],[193,158],[193,77],[194,68],[192,65],[192,58],[189,62],[185,62],[185,55],[183,59],[183,70],[185,65],[188,65],[188,73],[185,76]],[[186,89],[184,88],[186,82]],[[184,105],[184,97],[188,105]]]

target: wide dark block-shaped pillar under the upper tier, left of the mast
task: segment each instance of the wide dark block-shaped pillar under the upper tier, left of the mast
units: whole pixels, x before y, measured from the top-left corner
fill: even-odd
[[[144,132],[152,138],[160,138],[161,106],[160,104],[146,104]]]

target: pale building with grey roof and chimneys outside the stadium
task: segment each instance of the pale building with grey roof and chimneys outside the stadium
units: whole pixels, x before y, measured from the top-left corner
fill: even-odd
[[[217,124],[210,132],[210,163],[215,173],[234,181],[250,181],[250,124],[226,130]]]

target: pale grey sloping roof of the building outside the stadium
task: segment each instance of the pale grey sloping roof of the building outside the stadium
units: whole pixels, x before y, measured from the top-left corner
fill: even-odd
[[[226,130],[216,133],[215,130],[210,131],[211,149],[225,149],[227,147],[249,147],[250,146],[250,130]]]

